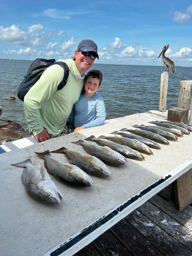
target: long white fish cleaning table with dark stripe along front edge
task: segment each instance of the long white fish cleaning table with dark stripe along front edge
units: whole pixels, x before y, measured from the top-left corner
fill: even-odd
[[[144,154],[143,161],[127,159],[126,165],[109,166],[109,178],[90,175],[92,187],[70,185],[50,175],[63,194],[59,205],[31,198],[21,181],[23,168],[11,163],[30,158],[33,165],[40,167],[43,160],[34,152],[62,146],[84,152],[82,146],[71,142],[91,135],[111,135],[124,127],[154,120],[165,118],[142,113],[110,119],[102,126],[0,154],[0,254],[73,255],[191,169],[192,135],[169,141],[169,145],[160,144],[161,150],[152,148],[154,154]],[[63,154],[51,154],[68,162]]]

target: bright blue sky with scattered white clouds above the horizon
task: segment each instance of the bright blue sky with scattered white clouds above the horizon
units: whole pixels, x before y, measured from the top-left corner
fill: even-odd
[[[165,44],[176,66],[192,67],[192,1],[1,0],[0,58],[70,58],[81,39],[95,63],[156,65]]]

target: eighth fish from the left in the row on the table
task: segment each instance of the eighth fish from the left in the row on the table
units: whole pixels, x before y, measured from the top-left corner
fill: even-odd
[[[149,131],[144,131],[144,130],[139,130],[139,129],[127,129],[127,128],[123,128],[123,129],[121,129],[121,131],[134,133],[139,136],[145,137],[147,139],[155,140],[156,142],[161,143],[161,144],[167,144],[167,145],[169,144],[168,140],[165,137],[163,137],[159,134],[156,134],[156,133],[149,132]]]

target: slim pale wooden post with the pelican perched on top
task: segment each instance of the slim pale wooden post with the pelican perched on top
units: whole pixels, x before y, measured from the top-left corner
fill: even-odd
[[[168,71],[163,71],[161,73],[159,111],[166,111],[167,90],[168,90]]]

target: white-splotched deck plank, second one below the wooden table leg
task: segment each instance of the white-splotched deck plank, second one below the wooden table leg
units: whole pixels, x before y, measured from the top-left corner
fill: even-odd
[[[143,207],[139,207],[138,210],[147,216],[150,221],[169,233],[170,236],[180,243],[180,246],[182,244],[189,250],[192,250],[192,233],[190,229],[184,227],[149,201]]]

